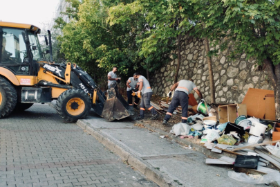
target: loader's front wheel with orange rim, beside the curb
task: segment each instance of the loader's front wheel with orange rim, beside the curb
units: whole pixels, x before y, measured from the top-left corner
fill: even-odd
[[[65,121],[76,122],[88,115],[91,110],[91,99],[81,89],[68,89],[57,98],[56,109]]]

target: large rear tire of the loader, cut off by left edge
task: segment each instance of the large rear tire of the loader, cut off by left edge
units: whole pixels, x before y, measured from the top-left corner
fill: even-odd
[[[17,105],[17,91],[5,78],[0,77],[0,117],[5,118]]]

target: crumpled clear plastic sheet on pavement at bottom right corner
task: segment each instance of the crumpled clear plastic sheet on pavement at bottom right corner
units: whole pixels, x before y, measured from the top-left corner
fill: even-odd
[[[277,183],[279,184],[279,182],[280,182],[280,173],[279,172],[270,172],[269,174],[263,175],[262,177],[259,177],[258,179],[254,179],[253,177],[250,177],[243,172],[229,171],[228,177],[230,177],[236,181],[241,181],[246,184],[265,184],[265,183],[271,183],[271,182],[277,181],[277,179],[278,179]]]

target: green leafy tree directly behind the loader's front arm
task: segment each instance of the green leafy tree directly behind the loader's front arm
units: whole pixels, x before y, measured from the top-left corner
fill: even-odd
[[[141,17],[134,16],[129,23],[114,26],[106,23],[109,8],[116,6],[118,1],[74,2],[75,8],[68,9],[72,21],[66,24],[62,19],[56,20],[57,27],[63,32],[59,37],[62,52],[68,60],[79,64],[95,78],[104,77],[112,66],[118,66],[124,77],[143,69],[153,71],[161,65],[155,62],[168,59],[168,56],[162,55],[170,51],[168,46],[162,46],[160,51],[163,53],[149,57],[138,55],[141,45],[136,41],[142,37],[144,30],[149,29]]]

